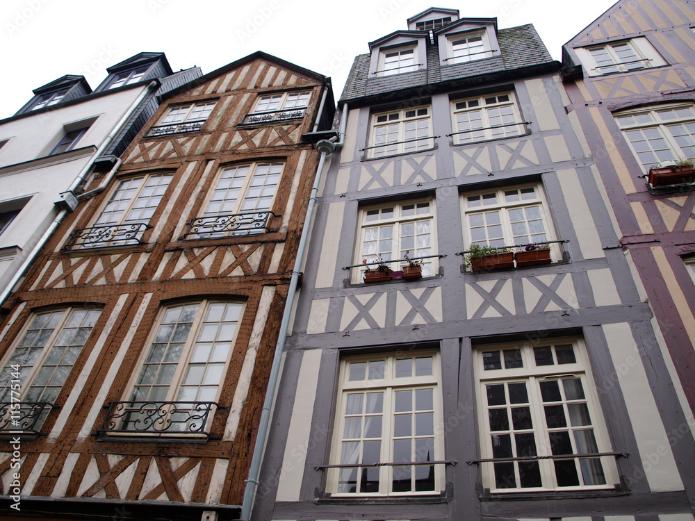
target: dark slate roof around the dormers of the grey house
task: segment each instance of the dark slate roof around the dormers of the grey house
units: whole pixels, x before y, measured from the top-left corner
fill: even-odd
[[[370,54],[360,54],[354,59],[350,76],[343,89],[341,101],[371,97],[381,93],[421,88],[422,85],[440,85],[459,82],[463,78],[475,80],[491,73],[513,72],[534,66],[559,67],[550,57],[548,49],[541,41],[532,24],[500,29],[498,31],[500,56],[475,60],[457,65],[439,65],[439,47],[427,45],[427,70],[393,74],[380,78],[369,77]],[[508,75],[507,75],[508,77]]]

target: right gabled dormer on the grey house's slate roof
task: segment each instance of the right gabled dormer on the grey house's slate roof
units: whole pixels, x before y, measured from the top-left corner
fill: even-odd
[[[500,56],[496,18],[461,18],[434,30],[439,65],[457,65]]]

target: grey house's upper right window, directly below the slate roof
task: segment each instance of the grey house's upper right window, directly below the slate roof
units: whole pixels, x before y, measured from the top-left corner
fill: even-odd
[[[451,102],[455,144],[508,138],[526,133],[514,92]]]

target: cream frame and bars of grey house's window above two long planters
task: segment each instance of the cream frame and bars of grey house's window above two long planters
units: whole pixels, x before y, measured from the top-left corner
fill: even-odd
[[[530,189],[533,190],[533,195],[528,192]],[[512,192],[514,190],[516,190],[519,199],[516,201],[507,201],[507,194],[505,192]],[[493,201],[492,195],[495,196],[495,201]],[[511,199],[514,196],[509,195],[509,197]],[[471,201],[471,199],[476,200]],[[523,221],[514,220],[514,217],[509,213],[510,210],[532,207],[540,208],[540,219],[538,219],[537,215],[530,215],[524,211]],[[475,192],[463,192],[461,194],[461,219],[464,223],[464,245],[466,249],[470,248],[473,244],[491,247],[512,247],[555,240],[553,220],[548,210],[546,210],[547,208],[549,208],[549,206],[540,183],[503,186],[500,188],[491,188],[489,190],[477,190]],[[477,220],[471,220],[471,215],[494,213],[496,210],[498,210],[500,214],[499,224],[494,216],[487,217],[487,215],[485,215],[482,223],[477,222]],[[535,214],[535,212],[533,212],[533,214]],[[541,224],[543,224],[544,231],[541,232],[538,231],[537,228],[532,228],[532,226],[528,224],[532,221],[540,221]],[[515,234],[514,223],[519,223],[518,228],[521,228],[522,222],[525,223],[527,232],[525,238],[522,238],[520,229],[516,229]],[[493,230],[490,230],[490,228],[493,228]],[[478,236],[473,229],[484,229],[486,237],[482,238],[482,236]],[[502,234],[501,238],[499,237],[500,231]],[[539,237],[541,233],[544,235],[543,238]],[[556,248],[557,245],[551,245],[551,258],[559,258],[559,250],[556,251]]]

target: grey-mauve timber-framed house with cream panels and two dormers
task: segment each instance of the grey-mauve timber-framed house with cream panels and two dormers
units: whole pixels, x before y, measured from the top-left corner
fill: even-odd
[[[565,92],[577,69],[531,25],[455,9],[369,49],[338,103],[252,518],[692,521],[692,413],[619,247],[587,88]],[[527,245],[549,259],[466,265]],[[363,282],[379,261],[389,280]]]

